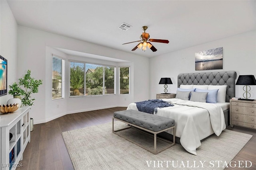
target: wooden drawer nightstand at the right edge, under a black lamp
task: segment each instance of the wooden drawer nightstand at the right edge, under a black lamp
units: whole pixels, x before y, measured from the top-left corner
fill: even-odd
[[[256,100],[230,100],[230,127],[256,129]]]

